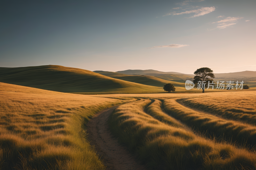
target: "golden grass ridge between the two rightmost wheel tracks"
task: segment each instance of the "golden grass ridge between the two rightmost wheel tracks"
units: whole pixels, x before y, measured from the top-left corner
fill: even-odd
[[[182,106],[175,100],[164,100],[164,110],[172,117],[195,127],[208,136],[225,138],[236,143],[256,145],[256,127],[240,122],[226,120],[218,116],[198,112]]]

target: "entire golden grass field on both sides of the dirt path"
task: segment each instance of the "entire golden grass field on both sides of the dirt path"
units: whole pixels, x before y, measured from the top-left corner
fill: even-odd
[[[0,87],[0,169],[105,169],[86,124],[122,103],[110,129],[148,169],[256,168],[255,91],[79,95]]]

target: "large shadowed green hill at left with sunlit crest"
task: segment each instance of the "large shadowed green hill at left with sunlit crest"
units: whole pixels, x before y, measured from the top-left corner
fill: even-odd
[[[58,65],[0,67],[0,82],[58,92],[163,92],[160,87]]]

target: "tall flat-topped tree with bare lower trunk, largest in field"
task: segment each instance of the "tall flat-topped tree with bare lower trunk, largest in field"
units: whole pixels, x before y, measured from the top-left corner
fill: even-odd
[[[204,82],[205,85],[202,86],[202,89],[203,89],[203,93],[204,93],[204,88],[206,86],[208,86],[208,81],[210,81],[210,83],[212,83],[213,79],[211,78],[215,78],[214,74],[213,74],[213,71],[208,68],[208,67],[202,67],[200,69],[197,69],[194,74],[196,75],[194,77],[194,80],[193,80],[193,83],[195,85],[198,84],[198,81],[201,81],[201,82]],[[203,83],[202,83],[203,84]]]

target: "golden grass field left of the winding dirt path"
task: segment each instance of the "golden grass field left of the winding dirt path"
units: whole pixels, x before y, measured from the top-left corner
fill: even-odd
[[[105,169],[86,123],[106,107],[136,100],[0,87],[0,169]]]

